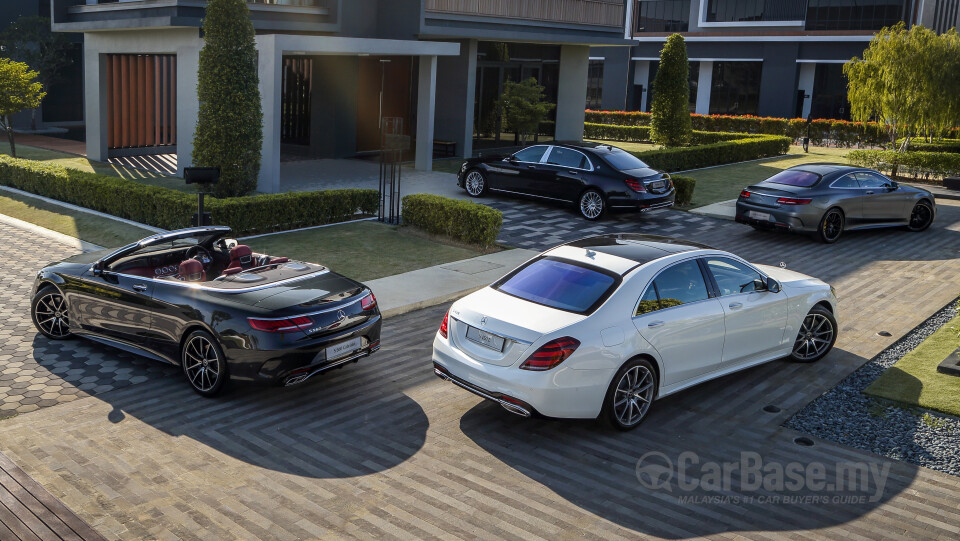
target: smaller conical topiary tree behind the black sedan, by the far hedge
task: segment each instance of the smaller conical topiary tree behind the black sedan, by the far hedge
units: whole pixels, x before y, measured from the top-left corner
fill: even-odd
[[[690,66],[683,36],[674,34],[660,51],[660,66],[653,80],[650,138],[665,147],[690,144]]]

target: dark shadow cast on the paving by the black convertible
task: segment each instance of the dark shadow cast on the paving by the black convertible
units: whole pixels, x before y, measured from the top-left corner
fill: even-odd
[[[111,406],[110,422],[146,423],[276,472],[345,478],[384,471],[416,454],[429,427],[420,405],[380,377],[392,364],[382,356],[295,387],[231,383],[211,399],[194,393],[178,367],[81,339],[38,336],[34,343],[37,363],[70,384],[84,385],[85,376],[71,372],[83,363],[146,376],[109,384],[114,374],[104,373],[101,386],[89,388]]]

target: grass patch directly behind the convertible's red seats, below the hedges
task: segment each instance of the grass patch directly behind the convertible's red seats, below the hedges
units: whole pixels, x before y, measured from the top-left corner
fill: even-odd
[[[373,221],[277,233],[245,241],[255,252],[321,263],[355,280],[373,280],[481,255]]]

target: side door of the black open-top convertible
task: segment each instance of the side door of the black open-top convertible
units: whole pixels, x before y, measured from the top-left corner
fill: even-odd
[[[153,323],[154,281],[140,276],[92,270],[74,291],[84,332],[146,347]]]

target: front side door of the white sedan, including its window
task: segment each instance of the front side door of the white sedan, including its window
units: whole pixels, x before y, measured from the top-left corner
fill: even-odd
[[[767,290],[766,280],[742,261],[721,256],[703,258],[723,307],[725,366],[749,363],[782,347],[788,299]]]

